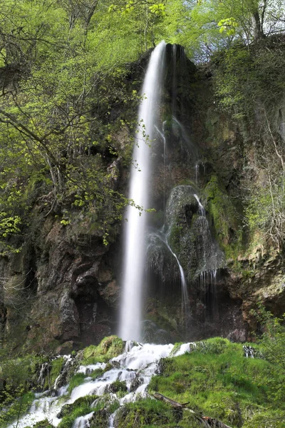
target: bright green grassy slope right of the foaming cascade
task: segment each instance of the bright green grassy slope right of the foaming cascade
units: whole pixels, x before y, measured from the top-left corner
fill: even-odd
[[[190,409],[232,427],[251,427],[257,414],[273,417],[274,408],[285,421],[285,374],[266,360],[245,358],[242,345],[210,339],[190,354],[162,360],[161,370],[152,377],[150,392],[189,402]]]

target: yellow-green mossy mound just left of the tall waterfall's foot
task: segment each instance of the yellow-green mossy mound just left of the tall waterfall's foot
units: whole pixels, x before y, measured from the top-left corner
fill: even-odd
[[[123,350],[123,340],[119,337],[105,337],[98,346],[90,345],[83,351],[81,364],[89,365],[95,362],[107,362],[111,358],[120,355]]]

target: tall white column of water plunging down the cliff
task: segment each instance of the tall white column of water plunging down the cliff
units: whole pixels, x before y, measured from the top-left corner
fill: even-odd
[[[133,167],[130,173],[129,198],[144,209],[149,208],[150,145],[157,120],[157,104],[160,101],[165,46],[165,42],[162,41],[152,51],[145,74],[142,86],[144,99],[138,111],[139,125],[133,151],[133,159],[138,164],[138,168]],[[124,340],[140,340],[147,213],[139,213],[138,209],[129,205],[126,218],[128,222],[124,231],[123,296],[120,305],[119,335]]]

